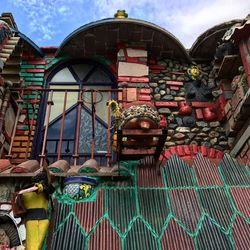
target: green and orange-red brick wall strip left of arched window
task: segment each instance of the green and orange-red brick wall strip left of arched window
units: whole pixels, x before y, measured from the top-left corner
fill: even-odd
[[[24,103],[22,105],[12,148],[11,162],[13,164],[21,163],[31,156],[41,92],[29,91],[29,88],[37,90],[43,88],[44,71],[45,61],[43,59],[23,55],[20,77],[23,78],[25,84],[23,95]]]

